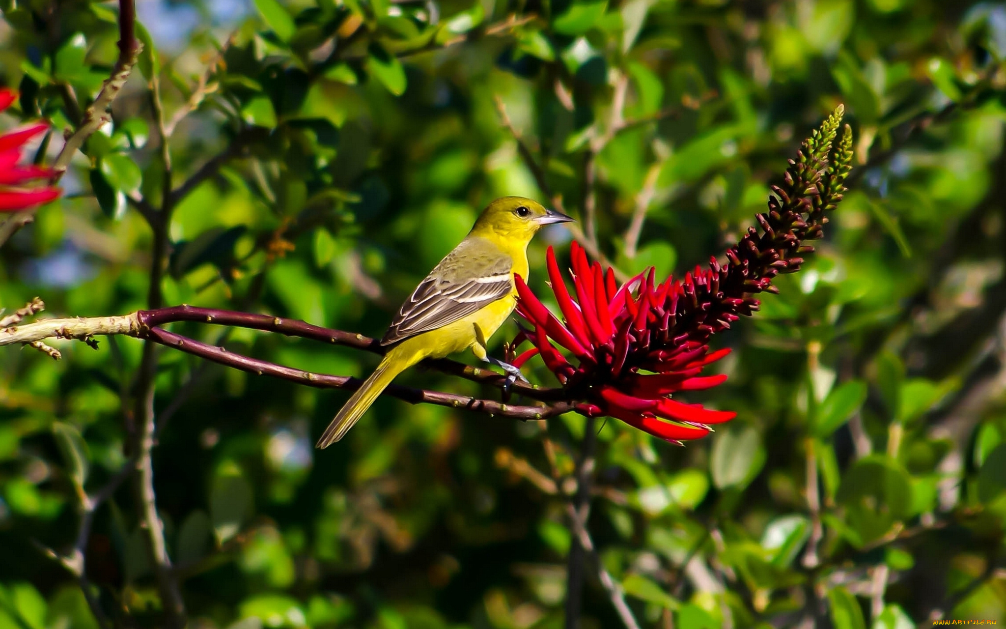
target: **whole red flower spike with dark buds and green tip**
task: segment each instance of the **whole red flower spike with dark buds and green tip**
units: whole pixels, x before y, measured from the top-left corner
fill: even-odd
[[[711,432],[711,425],[732,420],[735,413],[684,404],[673,396],[726,379],[701,375],[706,365],[729,352],[710,352],[709,337],[757,311],[760,302],[753,295],[778,292],[773,279],[799,271],[800,256],[814,251],[803,243],[821,238],[828,222],[824,213],[842,199],[850,171],[848,126],[835,142],[841,118],[840,107],[804,142],[783,185],[773,186],[769,211],[757,216],[762,233],[749,227],[726,252],[726,265],[712,258],[708,268],[695,267],[682,281],[668,278],[659,285],[654,285],[650,268],[619,287],[612,269],[592,265],[573,243],[571,295],[549,248],[548,277],[563,321],[517,277],[517,311],[533,325],[518,339],[526,338],[534,347],[513,364],[519,367],[540,355],[569,400],[577,402],[578,413],[614,417],[666,441],[698,439]]]

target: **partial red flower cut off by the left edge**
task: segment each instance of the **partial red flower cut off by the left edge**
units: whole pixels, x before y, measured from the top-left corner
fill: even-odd
[[[16,98],[15,92],[0,90],[0,112],[10,107]],[[55,186],[31,187],[31,183],[39,179],[50,179],[51,168],[18,165],[24,144],[48,128],[48,123],[39,122],[0,135],[0,212],[47,203],[61,193]]]

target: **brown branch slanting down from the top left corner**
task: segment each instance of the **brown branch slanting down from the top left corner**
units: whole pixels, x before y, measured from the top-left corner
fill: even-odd
[[[70,160],[77,149],[94,134],[112,120],[112,102],[116,100],[123,86],[129,78],[133,65],[143,44],[136,38],[136,5],[134,0],[120,0],[119,3],[119,59],[112,68],[112,74],[105,81],[102,91],[98,93],[98,98],[91,107],[83,113],[80,126],[63,144],[62,150],[56,156],[52,164],[52,181],[58,181],[66,172]],[[19,211],[11,215],[2,225],[0,225],[0,247],[3,246],[10,237],[14,235],[18,229],[34,220],[35,210],[28,209]]]

